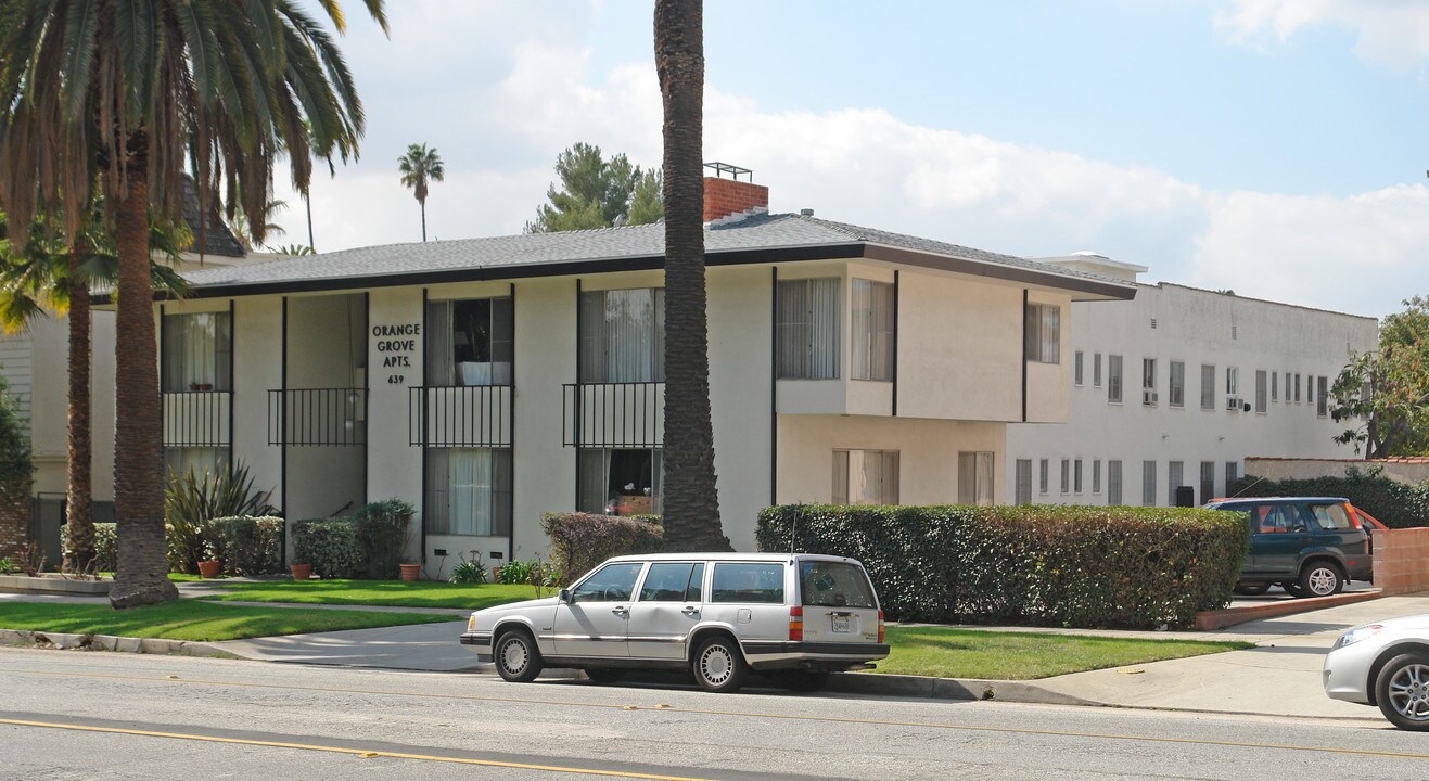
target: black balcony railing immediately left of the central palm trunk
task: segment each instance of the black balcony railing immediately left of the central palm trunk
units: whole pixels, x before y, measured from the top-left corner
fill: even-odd
[[[563,395],[567,447],[664,444],[664,383],[567,384]]]

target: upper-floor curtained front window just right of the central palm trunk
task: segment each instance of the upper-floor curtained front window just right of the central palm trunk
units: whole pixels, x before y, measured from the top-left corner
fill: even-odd
[[[776,377],[836,380],[839,377],[839,280],[780,280],[777,300]]]

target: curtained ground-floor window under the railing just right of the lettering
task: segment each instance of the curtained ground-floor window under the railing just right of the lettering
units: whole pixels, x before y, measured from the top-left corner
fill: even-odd
[[[426,465],[429,534],[510,535],[510,448],[429,447]]]

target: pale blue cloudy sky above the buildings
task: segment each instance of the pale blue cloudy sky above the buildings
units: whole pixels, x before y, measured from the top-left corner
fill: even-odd
[[[362,158],[320,253],[520,233],[576,141],[660,163],[652,0],[349,3]],[[704,160],[776,213],[1370,317],[1429,294],[1429,3],[709,0]],[[302,198],[276,217],[306,244]]]

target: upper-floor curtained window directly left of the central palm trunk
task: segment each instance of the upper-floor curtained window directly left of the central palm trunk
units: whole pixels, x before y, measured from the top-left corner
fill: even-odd
[[[580,381],[664,381],[664,290],[580,294]]]

